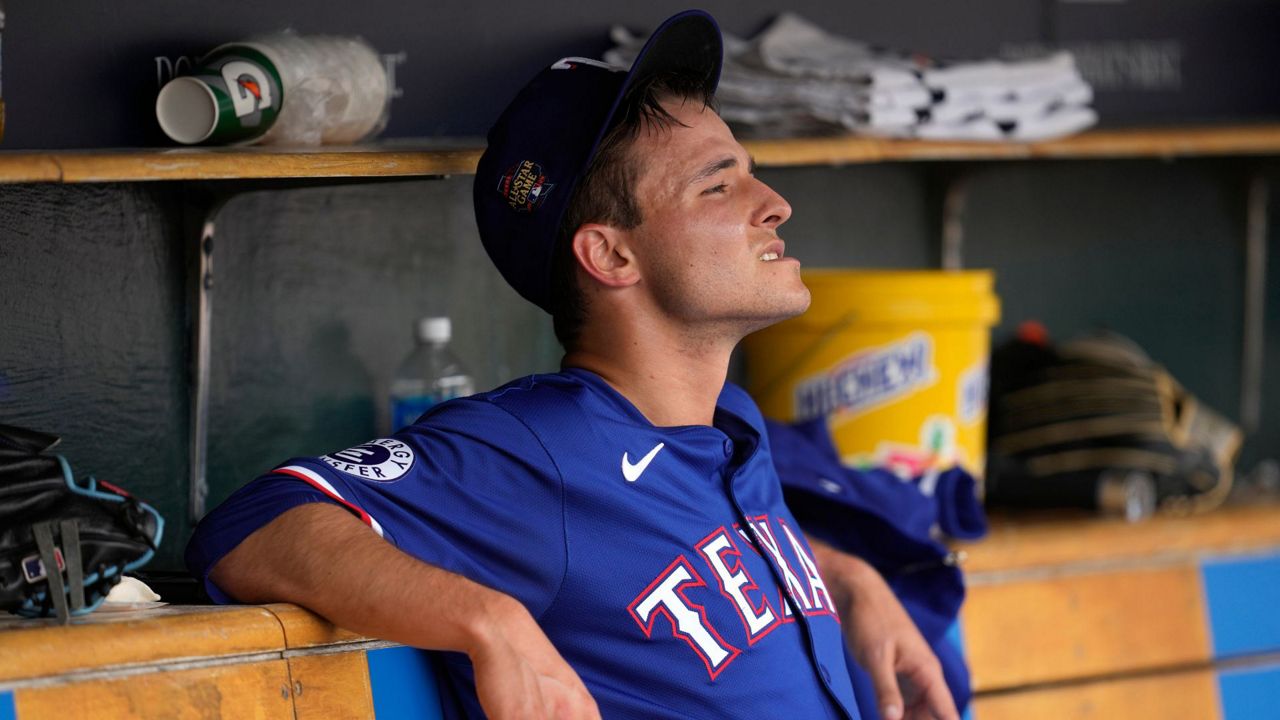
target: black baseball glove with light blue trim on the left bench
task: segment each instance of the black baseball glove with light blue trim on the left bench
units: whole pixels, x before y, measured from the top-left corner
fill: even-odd
[[[77,484],[59,438],[0,425],[0,610],[91,612],[125,571],[155,555],[164,519],[129,493]]]

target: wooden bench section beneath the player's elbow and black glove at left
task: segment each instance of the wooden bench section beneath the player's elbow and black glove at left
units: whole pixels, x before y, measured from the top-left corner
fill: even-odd
[[[0,620],[0,720],[440,717],[428,653],[293,605]]]

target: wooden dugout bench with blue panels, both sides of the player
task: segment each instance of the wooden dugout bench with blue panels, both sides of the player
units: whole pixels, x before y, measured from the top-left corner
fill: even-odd
[[[995,518],[961,548],[970,717],[1280,717],[1280,506]],[[292,605],[0,619],[0,720],[46,717],[431,719],[439,697],[428,653]]]

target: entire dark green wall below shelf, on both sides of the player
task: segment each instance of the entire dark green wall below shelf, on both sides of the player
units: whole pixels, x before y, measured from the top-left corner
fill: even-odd
[[[1185,386],[1238,413],[1243,160],[890,164],[767,169],[809,265],[937,264],[942,173],[969,172],[966,264],[997,272],[1005,322],[1056,337],[1130,334]],[[1280,164],[1271,256],[1280,256]],[[236,187],[234,183],[223,187]],[[554,369],[550,324],[485,258],[471,178],[269,190],[232,200],[214,246],[210,501],[301,454],[379,432],[422,314],[454,316],[481,387]],[[183,187],[0,186],[0,421],[59,433],[79,473],[169,519],[187,502]],[[187,218],[189,220],[189,218]],[[1280,270],[1272,264],[1263,425],[1242,468],[1280,456]],[[735,373],[741,368],[736,366]]]

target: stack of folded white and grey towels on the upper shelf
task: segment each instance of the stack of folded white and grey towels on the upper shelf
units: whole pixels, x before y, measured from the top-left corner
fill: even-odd
[[[609,63],[644,45],[613,28]],[[724,36],[721,115],[748,135],[852,131],[924,140],[1037,141],[1097,123],[1093,90],[1069,53],[938,63],[831,35],[785,13],[753,40]]]

